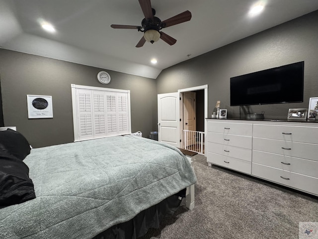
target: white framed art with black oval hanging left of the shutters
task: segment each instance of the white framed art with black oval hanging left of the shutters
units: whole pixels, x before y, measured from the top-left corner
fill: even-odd
[[[26,96],[29,119],[53,118],[52,96]]]

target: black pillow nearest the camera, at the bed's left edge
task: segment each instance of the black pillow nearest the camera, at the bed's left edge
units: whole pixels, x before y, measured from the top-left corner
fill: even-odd
[[[28,166],[15,156],[0,151],[0,208],[34,198]]]

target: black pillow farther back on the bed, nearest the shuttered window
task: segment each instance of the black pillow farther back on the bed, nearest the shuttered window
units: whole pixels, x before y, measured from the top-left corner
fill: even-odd
[[[30,154],[31,148],[28,140],[21,133],[8,128],[0,131],[0,150],[23,160]]]

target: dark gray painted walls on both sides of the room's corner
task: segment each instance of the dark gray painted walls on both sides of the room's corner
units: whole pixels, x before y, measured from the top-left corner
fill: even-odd
[[[239,117],[230,107],[230,77],[305,61],[304,103],[252,106],[267,119],[286,119],[289,108],[308,108],[318,97],[318,11],[244,38],[163,70],[154,79],[107,70],[112,81],[97,82],[99,68],[0,49],[0,84],[5,126],[17,126],[34,147],[72,142],[71,84],[131,91],[132,131],[148,137],[157,130],[157,94],[208,85],[208,115],[215,103]],[[28,119],[26,95],[49,95],[53,119]]]

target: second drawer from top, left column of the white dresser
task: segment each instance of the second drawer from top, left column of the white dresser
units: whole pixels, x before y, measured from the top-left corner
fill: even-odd
[[[220,143],[224,145],[250,149],[252,148],[252,137],[250,136],[208,132],[207,140],[208,142]]]

